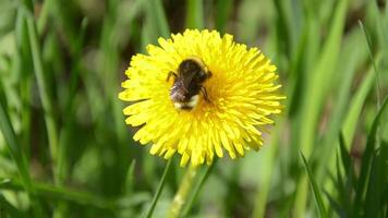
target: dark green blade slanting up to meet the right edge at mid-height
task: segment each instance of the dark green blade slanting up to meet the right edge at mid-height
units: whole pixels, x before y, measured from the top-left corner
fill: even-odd
[[[377,144],[377,130],[379,126],[379,123],[381,122],[381,114],[386,110],[388,105],[388,97],[385,98],[381,108],[377,112],[377,116],[375,117],[371,131],[367,136],[366,141],[366,146],[365,150],[363,153],[362,157],[362,164],[361,164],[361,171],[360,171],[360,177],[359,177],[359,182],[357,182],[357,189],[355,192],[355,199],[354,199],[354,208],[362,208],[362,202],[364,201],[365,192],[366,192],[366,186],[367,186],[367,179],[369,178],[369,172],[371,172],[371,166],[372,166],[372,157],[373,153],[375,150],[376,144]]]

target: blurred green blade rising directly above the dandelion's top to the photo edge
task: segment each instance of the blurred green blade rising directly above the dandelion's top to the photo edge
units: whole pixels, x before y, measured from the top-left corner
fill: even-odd
[[[204,2],[203,0],[187,0],[186,27],[204,28]]]

